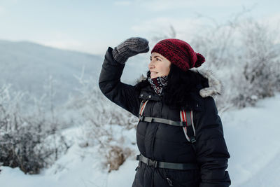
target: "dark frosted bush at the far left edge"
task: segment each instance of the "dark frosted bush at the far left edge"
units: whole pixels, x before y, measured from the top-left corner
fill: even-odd
[[[37,174],[69,146],[57,131],[58,120],[49,119],[41,111],[27,112],[22,104],[28,95],[11,93],[9,88],[0,88],[0,162]]]

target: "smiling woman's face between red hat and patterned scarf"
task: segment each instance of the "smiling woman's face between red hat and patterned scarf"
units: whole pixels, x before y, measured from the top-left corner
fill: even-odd
[[[159,53],[153,52],[148,64],[148,69],[151,71],[151,78],[158,76],[167,76],[170,71],[171,62]]]

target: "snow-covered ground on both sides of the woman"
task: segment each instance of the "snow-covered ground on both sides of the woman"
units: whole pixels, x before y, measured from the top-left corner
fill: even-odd
[[[231,158],[228,171],[232,186],[280,186],[280,94],[264,99],[255,107],[220,113]],[[95,147],[78,146],[80,128],[65,132],[73,146],[55,165],[38,175],[20,169],[0,167],[1,187],[44,186],[131,186],[137,161],[129,158],[118,171],[104,172]],[[127,133],[127,132],[123,132]],[[128,137],[134,137],[130,130]],[[127,136],[126,136],[127,137]],[[128,141],[129,142],[129,141]],[[136,148],[136,147],[135,147]]]

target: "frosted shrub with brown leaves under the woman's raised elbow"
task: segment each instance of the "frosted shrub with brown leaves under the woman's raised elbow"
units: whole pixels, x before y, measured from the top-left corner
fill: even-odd
[[[78,90],[80,97],[73,97],[67,108],[83,116],[77,122],[83,124],[80,146],[98,146],[99,154],[104,158],[102,163],[111,172],[135,154],[136,140],[127,139],[123,132],[135,130],[138,118],[109,101],[93,80],[80,78],[79,81],[83,85]]]

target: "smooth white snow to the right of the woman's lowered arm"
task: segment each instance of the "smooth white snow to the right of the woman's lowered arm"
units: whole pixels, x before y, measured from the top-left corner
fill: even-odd
[[[280,95],[221,116],[232,186],[279,186]],[[278,157],[279,158],[279,157]]]

